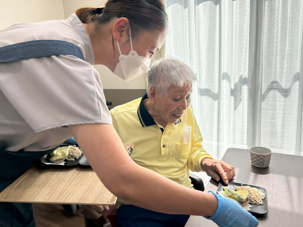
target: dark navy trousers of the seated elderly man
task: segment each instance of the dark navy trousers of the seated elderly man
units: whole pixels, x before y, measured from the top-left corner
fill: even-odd
[[[189,215],[165,214],[133,205],[121,205],[116,220],[118,227],[183,227]]]

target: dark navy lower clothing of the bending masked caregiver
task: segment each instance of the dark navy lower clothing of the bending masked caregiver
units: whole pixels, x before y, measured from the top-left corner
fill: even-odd
[[[33,166],[33,162],[52,152],[0,150],[0,192]],[[31,203],[0,202],[0,227],[34,227]]]

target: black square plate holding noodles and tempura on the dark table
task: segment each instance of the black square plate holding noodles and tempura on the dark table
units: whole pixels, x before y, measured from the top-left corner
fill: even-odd
[[[267,190],[265,188],[261,188],[261,187],[253,186],[253,185],[249,185],[249,184],[243,184],[243,185],[244,186],[248,185],[248,186],[254,187],[265,194],[265,198],[262,199],[263,204],[261,204],[261,205],[250,204],[252,207],[249,208],[250,210],[248,210],[248,212],[250,212],[251,214],[258,214],[258,215],[266,214],[268,212]],[[235,188],[234,186],[241,186],[241,183],[235,183],[235,182],[228,183],[229,188],[234,189]],[[219,183],[217,192],[221,192],[221,191],[224,191],[223,185],[221,183]]]

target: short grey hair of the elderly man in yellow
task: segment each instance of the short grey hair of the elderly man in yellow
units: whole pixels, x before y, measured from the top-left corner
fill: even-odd
[[[173,57],[160,58],[154,61],[147,72],[146,90],[149,96],[151,87],[155,87],[160,97],[171,86],[184,87],[197,80],[195,73],[184,62]]]

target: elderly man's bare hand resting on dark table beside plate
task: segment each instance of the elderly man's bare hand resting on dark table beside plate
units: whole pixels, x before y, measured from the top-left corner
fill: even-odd
[[[218,176],[218,174],[220,174],[225,184],[228,184],[228,181],[233,179],[236,175],[235,167],[221,160],[205,158],[201,161],[201,166],[208,176],[211,176],[218,182],[220,181],[220,177]]]

